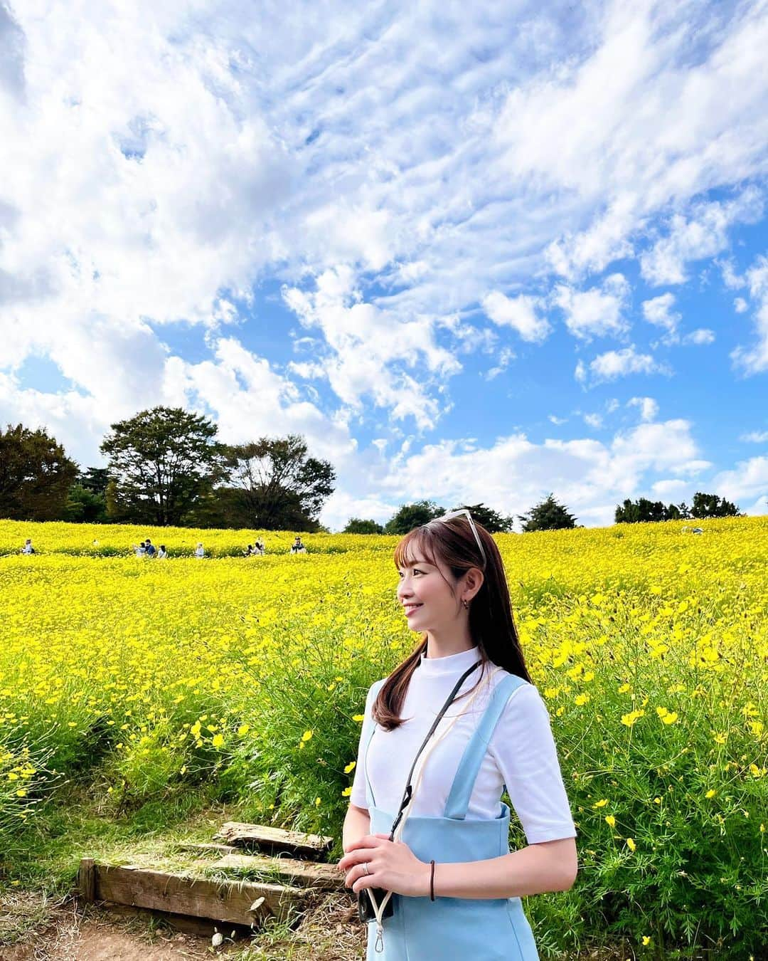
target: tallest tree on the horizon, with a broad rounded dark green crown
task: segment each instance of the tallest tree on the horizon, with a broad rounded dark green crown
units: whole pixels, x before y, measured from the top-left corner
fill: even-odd
[[[181,524],[224,476],[217,428],[182,407],[153,407],[111,425],[101,445],[109,458],[108,509],[115,518]]]

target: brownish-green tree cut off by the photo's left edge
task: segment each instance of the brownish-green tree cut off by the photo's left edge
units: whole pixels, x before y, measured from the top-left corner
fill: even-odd
[[[78,465],[44,428],[9,424],[0,431],[0,517],[56,520],[77,473]]]

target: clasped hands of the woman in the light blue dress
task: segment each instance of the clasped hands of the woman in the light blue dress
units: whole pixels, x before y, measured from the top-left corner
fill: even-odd
[[[389,834],[366,834],[355,841],[339,861],[339,869],[347,872],[345,887],[355,893],[383,888],[412,898],[429,895],[430,865],[420,861],[407,844],[390,841]]]

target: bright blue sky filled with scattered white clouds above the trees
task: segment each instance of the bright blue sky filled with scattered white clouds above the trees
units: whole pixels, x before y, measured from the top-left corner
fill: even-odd
[[[768,512],[768,4],[0,7],[0,422],[304,434],[322,519]]]

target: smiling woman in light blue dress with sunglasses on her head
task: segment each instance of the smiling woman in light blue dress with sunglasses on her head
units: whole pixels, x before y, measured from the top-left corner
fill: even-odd
[[[421,641],[368,692],[339,862],[348,887],[373,893],[367,957],[532,961],[520,897],[572,886],[576,829],[501,556],[464,510],[406,534],[395,563],[397,601]],[[509,850],[505,786],[520,850]]]

